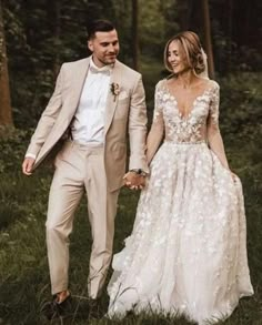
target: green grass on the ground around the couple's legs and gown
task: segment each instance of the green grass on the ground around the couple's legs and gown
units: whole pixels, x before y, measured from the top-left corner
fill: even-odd
[[[9,180],[7,180],[9,181]],[[32,179],[20,179],[17,182],[17,195],[24,197],[21,214],[3,226],[0,233],[0,319],[2,324],[47,324],[40,315],[42,303],[50,297],[48,261],[44,242],[46,202],[50,177],[43,181],[40,175]],[[39,185],[33,192],[32,185]],[[41,190],[40,190],[41,189]],[[127,190],[122,191],[119,200],[119,213],[115,224],[114,250],[123,246],[123,240],[130,234],[134,217],[138,195]],[[249,221],[249,257],[255,295],[241,301],[232,317],[225,324],[262,324],[261,301],[261,219],[255,212],[255,205],[246,200]],[[251,213],[252,212],[252,213]],[[82,201],[74,222],[74,232],[71,236],[71,291],[79,296],[87,297],[87,276],[91,234],[88,225],[85,202]],[[107,295],[103,295],[102,305],[107,306]],[[64,322],[63,322],[64,323]],[[51,324],[63,324],[51,322]],[[0,322],[1,324],[1,322]],[[69,324],[69,323],[64,323]],[[84,321],[74,321],[73,324],[87,324]],[[163,316],[131,315],[127,319],[111,322],[108,319],[90,319],[88,324],[189,324],[187,321],[165,318]]]

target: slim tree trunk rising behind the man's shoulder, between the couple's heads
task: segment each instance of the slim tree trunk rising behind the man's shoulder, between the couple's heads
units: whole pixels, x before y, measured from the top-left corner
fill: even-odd
[[[132,0],[132,59],[133,69],[139,70],[139,3]]]

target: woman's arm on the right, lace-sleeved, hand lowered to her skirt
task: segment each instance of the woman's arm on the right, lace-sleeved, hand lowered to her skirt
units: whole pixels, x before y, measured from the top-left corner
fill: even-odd
[[[222,165],[229,169],[228,160],[224,152],[223,140],[219,129],[219,103],[220,87],[218,83],[214,83],[208,118],[208,141],[210,149],[216,154]]]

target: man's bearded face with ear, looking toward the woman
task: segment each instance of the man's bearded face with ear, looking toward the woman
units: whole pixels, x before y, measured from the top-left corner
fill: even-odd
[[[88,41],[89,50],[93,52],[93,62],[98,67],[112,64],[119,53],[118,33],[112,31],[98,31],[94,38]]]

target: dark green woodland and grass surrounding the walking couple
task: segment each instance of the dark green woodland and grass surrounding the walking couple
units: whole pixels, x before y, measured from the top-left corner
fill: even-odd
[[[221,85],[221,132],[246,207],[248,250],[255,294],[224,324],[262,324],[262,1],[260,0],[0,0],[0,324],[47,324],[50,298],[44,221],[50,164],[32,177],[21,163],[60,64],[87,57],[87,23],[112,20],[119,59],[143,74],[149,120],[154,85],[164,75],[164,43],[174,33],[200,34],[210,75]],[[149,123],[150,126],[150,123]],[[115,252],[132,230],[138,193],[122,190]],[[71,236],[71,291],[84,305],[91,246],[85,201]],[[107,295],[102,306],[107,307]],[[80,316],[52,324],[113,324]],[[120,324],[120,323],[119,323]],[[185,319],[129,315],[121,324],[190,324]]]

